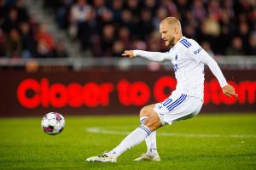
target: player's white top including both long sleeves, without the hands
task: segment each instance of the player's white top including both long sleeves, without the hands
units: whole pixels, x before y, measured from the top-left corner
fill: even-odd
[[[204,65],[208,65],[220,86],[227,82],[218,64],[193,39],[182,37],[166,53],[134,50],[134,54],[154,61],[171,60],[177,80],[176,91],[200,99],[204,97]]]

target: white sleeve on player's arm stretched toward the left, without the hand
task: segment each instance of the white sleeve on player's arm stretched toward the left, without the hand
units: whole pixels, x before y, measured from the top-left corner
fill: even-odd
[[[145,59],[149,59],[153,61],[171,60],[169,52],[160,53],[160,52],[149,52],[149,51],[143,51],[143,50],[133,50],[133,53],[136,56],[140,56]]]

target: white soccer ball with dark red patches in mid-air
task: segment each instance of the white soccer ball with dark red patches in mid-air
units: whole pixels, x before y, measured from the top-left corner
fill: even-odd
[[[61,133],[65,127],[65,119],[60,113],[49,112],[43,117],[41,127],[44,133],[55,135]]]

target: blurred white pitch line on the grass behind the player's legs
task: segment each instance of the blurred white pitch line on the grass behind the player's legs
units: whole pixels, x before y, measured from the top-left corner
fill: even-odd
[[[85,130],[89,133],[102,133],[102,134],[129,134],[128,131],[114,131],[106,130],[103,127],[88,127]],[[256,138],[253,134],[201,134],[201,133],[157,133],[160,136],[177,136],[177,137],[191,137],[191,138]]]

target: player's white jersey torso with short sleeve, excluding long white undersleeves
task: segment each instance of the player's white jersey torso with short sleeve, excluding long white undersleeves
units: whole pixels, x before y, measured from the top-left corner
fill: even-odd
[[[195,40],[182,37],[167,53],[175,71],[176,90],[203,99],[204,64],[200,61],[207,52]]]

